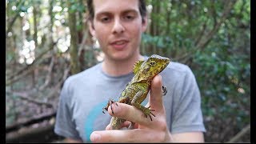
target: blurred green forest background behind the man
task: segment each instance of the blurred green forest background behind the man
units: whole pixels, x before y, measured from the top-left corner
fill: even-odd
[[[206,142],[250,142],[250,0],[147,0],[142,54],[190,66]],[[6,0],[6,142],[62,142],[67,77],[101,62],[84,0]]]

